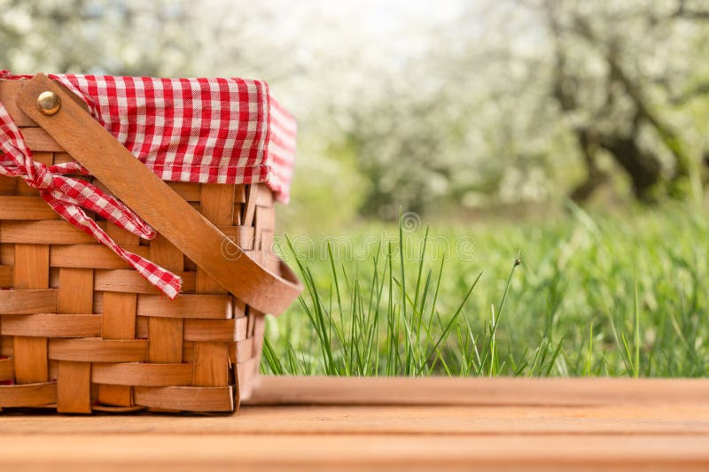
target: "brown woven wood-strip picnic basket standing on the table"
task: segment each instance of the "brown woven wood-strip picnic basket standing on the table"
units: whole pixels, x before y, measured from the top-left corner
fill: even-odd
[[[58,115],[36,110],[36,93],[43,89],[62,97]],[[118,152],[115,146],[121,144],[98,132],[100,125],[69,101],[66,90],[43,76],[0,81],[0,102],[21,128],[35,160],[56,164],[76,159],[93,175],[110,170],[114,174],[106,174],[109,181],[121,178],[128,171],[120,166],[95,171],[90,154],[97,149],[82,148],[94,140],[104,146],[102,151],[113,146]],[[86,120],[85,126],[67,133],[62,120],[68,119]],[[130,159],[122,151],[121,159]],[[147,169],[130,160],[127,165]],[[147,176],[138,171],[156,181],[160,191],[181,197],[179,203],[189,203],[172,209],[173,218],[201,213],[214,226],[200,230],[216,230],[248,257],[226,258],[222,251],[203,265],[195,260],[206,257],[199,253],[203,248],[195,246],[206,233],[192,235],[194,225],[188,219],[180,228],[185,240],[175,237],[175,228],[160,221],[169,220],[165,213],[172,210],[160,204],[158,190],[144,198],[158,211],[144,214],[145,202],[135,196],[131,200],[129,191],[105,178],[89,177],[160,232],[152,241],[139,240],[97,219],[121,246],[182,275],[182,294],[170,300],[113,251],[61,220],[37,190],[21,179],[0,177],[0,407],[56,407],[62,413],[145,408],[233,412],[250,394],[264,328],[263,313],[253,305],[264,311],[275,306],[261,303],[270,296],[281,298],[282,308],[298,290],[296,279],[270,254],[275,222],[271,190],[264,184],[166,183],[149,170]],[[123,177],[129,183],[136,178],[130,172],[130,179]],[[237,275],[238,283],[229,291],[222,267],[224,273]],[[282,283],[279,274],[289,279],[290,294],[259,292],[269,290],[269,281]]]

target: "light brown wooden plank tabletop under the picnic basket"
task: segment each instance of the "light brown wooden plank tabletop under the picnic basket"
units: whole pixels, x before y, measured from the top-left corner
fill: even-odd
[[[709,380],[262,377],[233,416],[0,416],[2,470],[709,470]]]

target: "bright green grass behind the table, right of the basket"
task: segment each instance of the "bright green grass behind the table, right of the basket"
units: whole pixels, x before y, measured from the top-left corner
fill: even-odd
[[[682,206],[570,210],[550,221],[414,232],[406,221],[363,225],[347,229],[349,245],[314,237],[315,249],[293,239],[284,254],[306,290],[269,317],[262,370],[706,375],[705,217]]]

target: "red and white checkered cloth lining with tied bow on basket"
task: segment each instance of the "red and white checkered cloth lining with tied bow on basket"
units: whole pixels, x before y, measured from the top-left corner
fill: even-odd
[[[0,71],[0,79],[29,78]],[[163,180],[265,182],[287,203],[296,125],[264,81],[152,79],[50,75],[88,104],[93,117]],[[23,178],[75,227],[94,236],[175,298],[182,280],[115,244],[84,212],[96,212],[136,236],[155,231],[126,205],[66,174],[87,174],[77,163],[45,166],[32,159],[22,134],[0,103],[0,174]]]

